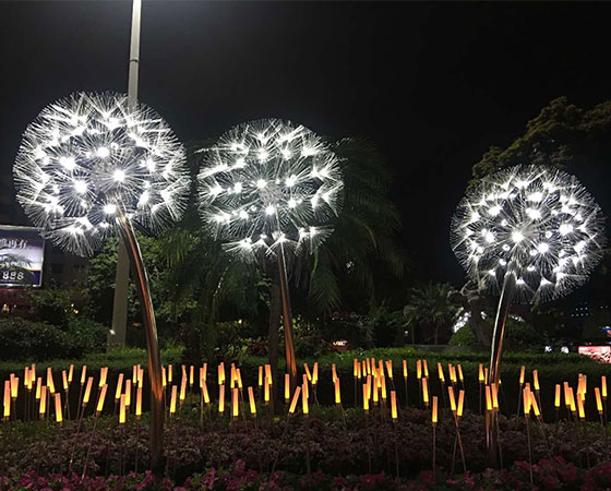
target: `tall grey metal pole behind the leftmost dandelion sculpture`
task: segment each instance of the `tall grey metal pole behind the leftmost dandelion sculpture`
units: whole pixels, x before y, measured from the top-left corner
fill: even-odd
[[[132,33],[130,44],[130,71],[128,77],[128,106],[133,109],[137,104],[137,69],[140,61],[140,19],[142,0],[133,0]],[[117,253],[115,276],[115,299],[112,303],[112,331],[108,336],[109,346],[124,346],[128,324],[128,292],[130,263],[128,251],[121,242]]]

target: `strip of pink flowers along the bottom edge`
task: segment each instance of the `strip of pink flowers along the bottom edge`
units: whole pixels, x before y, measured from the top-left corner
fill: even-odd
[[[238,460],[229,470],[209,469],[194,474],[181,483],[167,477],[156,477],[152,472],[130,472],[127,476],[84,477],[72,472],[40,476],[28,472],[16,477],[0,477],[0,490],[39,490],[39,491],[110,491],[110,490],[307,490],[321,491],[361,491],[361,490],[608,490],[611,486],[611,463],[604,463],[590,469],[577,468],[562,457],[541,459],[530,468],[527,463],[516,462],[508,469],[486,469],[482,472],[465,472],[451,476],[445,472],[427,470],[415,479],[400,479],[385,474],[366,474],[361,476],[340,476],[322,470],[312,472],[308,478],[290,472],[262,474],[248,469],[243,460]]]

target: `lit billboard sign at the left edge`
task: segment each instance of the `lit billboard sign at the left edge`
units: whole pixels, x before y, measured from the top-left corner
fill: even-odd
[[[0,225],[0,287],[39,287],[44,256],[37,228]]]

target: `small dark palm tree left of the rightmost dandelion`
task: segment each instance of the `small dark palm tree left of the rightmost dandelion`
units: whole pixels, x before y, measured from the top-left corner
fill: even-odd
[[[439,344],[440,330],[451,327],[456,316],[457,307],[447,299],[453,291],[446,283],[430,282],[411,289],[409,302],[403,313],[408,325],[412,326],[411,339],[416,340],[415,325],[428,326],[433,330],[433,343]]]

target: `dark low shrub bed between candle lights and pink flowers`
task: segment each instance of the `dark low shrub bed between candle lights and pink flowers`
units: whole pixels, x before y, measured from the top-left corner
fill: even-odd
[[[309,428],[301,415],[288,422],[286,417],[271,419],[261,407],[257,423],[226,418],[206,410],[203,428],[200,411],[189,399],[165,429],[166,474],[182,482],[204,468],[232,468],[237,460],[245,469],[268,472],[277,458],[276,469],[297,476],[306,474],[306,455],[311,468],[342,476],[396,472],[398,464],[403,477],[416,477],[432,465],[432,430],[426,410],[402,410],[396,423],[378,411],[364,418],[359,410],[342,416],[337,408],[313,407]],[[147,415],[144,416],[146,418]],[[524,419],[500,418],[501,450],[504,463],[527,462],[528,444]],[[100,418],[95,433],[93,421],[85,419],[80,432],[74,421],[58,428],[52,422],[9,422],[0,424],[0,476],[14,476],[28,470],[44,475],[74,471],[82,474],[87,459],[87,475],[120,474],[144,470],[148,466],[148,424],[129,419],[123,429],[110,417]],[[550,455],[575,463],[577,468],[596,466],[611,460],[611,440],[608,429],[596,423],[560,422],[543,424],[531,421],[534,462],[541,464],[539,472],[547,472],[549,489],[556,470],[548,471],[544,464]],[[450,474],[462,469],[460,453],[454,453],[456,430],[448,414],[443,414],[436,427],[436,465]],[[460,421],[467,469],[482,472],[488,454],[482,418],[472,412]],[[309,442],[309,443],[308,443]],[[87,458],[88,454],[88,458]],[[453,458],[454,454],[454,458]],[[453,467],[454,463],[454,467]],[[556,466],[558,467],[558,466]],[[592,482],[604,482],[604,467]],[[571,469],[562,469],[570,472]],[[426,475],[424,475],[426,476]]]

